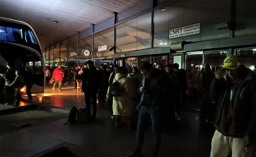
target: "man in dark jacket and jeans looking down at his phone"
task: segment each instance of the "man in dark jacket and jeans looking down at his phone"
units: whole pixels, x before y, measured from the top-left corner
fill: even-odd
[[[135,150],[128,156],[140,156],[144,142],[144,134],[147,127],[148,117],[151,118],[154,146],[151,156],[157,156],[161,142],[161,122],[165,96],[167,94],[166,79],[159,70],[152,68],[150,63],[143,63],[140,67],[143,79],[140,83],[142,93],[138,105],[139,120],[137,126]]]

